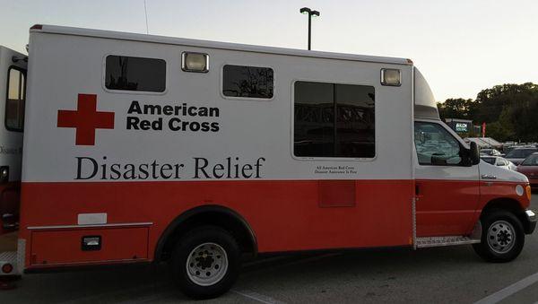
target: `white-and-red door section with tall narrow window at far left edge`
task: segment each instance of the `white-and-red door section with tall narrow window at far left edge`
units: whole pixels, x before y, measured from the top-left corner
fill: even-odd
[[[27,60],[0,47],[0,234],[19,222]]]

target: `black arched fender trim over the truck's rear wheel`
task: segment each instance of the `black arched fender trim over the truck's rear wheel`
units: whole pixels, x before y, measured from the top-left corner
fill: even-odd
[[[170,221],[157,242],[154,260],[168,260],[178,239],[203,225],[217,226],[229,231],[238,241],[241,251],[257,255],[256,235],[245,218],[228,207],[211,204],[189,209]]]

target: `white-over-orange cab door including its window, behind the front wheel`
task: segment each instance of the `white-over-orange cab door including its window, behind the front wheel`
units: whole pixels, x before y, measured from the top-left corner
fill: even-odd
[[[468,234],[480,199],[478,165],[441,121],[415,121],[414,142],[417,237]]]

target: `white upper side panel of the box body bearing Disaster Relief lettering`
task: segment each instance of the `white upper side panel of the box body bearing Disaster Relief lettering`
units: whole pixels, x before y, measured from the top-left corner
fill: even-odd
[[[207,53],[205,74],[181,70],[184,51]],[[159,58],[166,61],[166,91],[110,91],[104,85],[108,55]],[[229,98],[222,95],[223,65],[271,67],[271,100]],[[380,84],[381,68],[402,73],[399,87]],[[101,165],[139,168],[152,162],[178,167],[178,178],[127,178],[141,180],[248,179],[224,176],[196,177],[196,159],[207,170],[239,164],[259,177],[250,179],[411,179],[412,178],[412,65],[406,59],[335,55],[322,52],[262,48],[191,39],[159,38],[100,30],[48,27],[30,31],[30,66],[24,182],[110,181],[100,178]],[[293,155],[294,86],[296,81],[349,83],[375,89],[375,157],[372,159],[298,158]],[[97,110],[114,113],[113,129],[97,129],[94,145],[76,145],[75,129],[58,127],[58,110],[77,109],[78,94],[97,95]],[[127,130],[127,111],[136,100],[143,105],[214,107],[218,132]],[[140,115],[155,120],[160,116]],[[165,121],[173,116],[161,116]],[[196,121],[201,117],[178,117]],[[207,118],[207,117],[204,117]],[[77,168],[80,158],[99,165],[90,176],[91,161]],[[104,159],[106,157],[106,160]],[[78,158],[78,159],[77,159]],[[228,164],[230,159],[231,164]],[[263,161],[262,161],[263,160]],[[248,169],[248,166],[247,166]],[[109,169],[108,169],[109,174]],[[233,174],[232,174],[233,175]]]

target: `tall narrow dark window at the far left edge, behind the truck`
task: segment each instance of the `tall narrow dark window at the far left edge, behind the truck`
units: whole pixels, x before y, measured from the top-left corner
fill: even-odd
[[[10,67],[7,72],[7,98],[5,100],[5,128],[21,132],[24,125],[24,101],[26,100],[26,77],[24,71]]]

